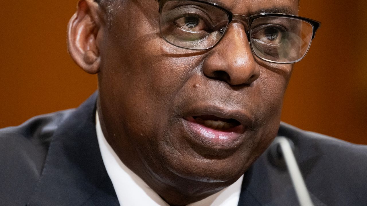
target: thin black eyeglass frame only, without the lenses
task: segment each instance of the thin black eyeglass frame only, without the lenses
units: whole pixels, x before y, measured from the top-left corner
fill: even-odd
[[[174,1],[174,0],[158,0],[158,3],[159,3],[159,14],[162,14],[162,9],[163,9],[163,6],[164,4],[166,4],[168,1]],[[315,35],[316,35],[316,31],[317,29],[320,28],[321,26],[321,22],[319,21],[316,21],[316,20],[313,20],[313,19],[309,19],[309,18],[305,18],[305,17],[302,17],[302,16],[297,16],[297,15],[293,15],[293,14],[282,14],[282,13],[261,13],[261,14],[254,14],[254,15],[251,15],[251,16],[244,16],[244,15],[239,15],[239,14],[233,14],[232,12],[226,10],[225,8],[221,7],[220,5],[218,4],[215,4],[215,3],[211,3],[211,2],[208,2],[208,1],[201,1],[201,0],[189,0],[189,1],[193,1],[193,2],[198,2],[198,3],[203,3],[203,4],[208,4],[208,5],[212,5],[214,7],[217,7],[218,9],[224,11],[227,16],[228,16],[228,23],[226,25],[226,29],[222,35],[222,37],[218,40],[217,43],[215,43],[214,45],[212,45],[211,47],[209,48],[205,48],[205,49],[192,49],[192,48],[185,48],[185,47],[180,47],[180,46],[177,46],[177,45],[174,45],[172,44],[170,41],[166,40],[166,38],[164,38],[162,32],[161,32],[161,29],[160,29],[160,33],[162,34],[164,40],[166,40],[168,43],[174,45],[175,47],[179,47],[179,48],[184,48],[184,49],[190,49],[190,50],[207,50],[207,49],[211,49],[213,47],[215,47],[219,42],[220,40],[224,37],[225,33],[227,32],[227,28],[228,28],[228,25],[232,22],[233,20],[233,17],[234,16],[240,16],[241,18],[243,19],[246,19],[247,20],[247,26],[248,26],[248,31],[245,31],[246,32],[246,35],[247,35],[247,40],[249,41],[249,43],[251,44],[251,41],[250,41],[250,38],[251,38],[251,23],[257,19],[257,18],[260,18],[260,17],[285,17],[285,18],[294,18],[294,19],[299,19],[299,20],[302,20],[302,21],[305,21],[305,22],[308,22],[311,26],[312,26],[312,38],[311,38],[311,41],[313,40],[313,38],[315,38]],[[305,55],[302,56],[300,59],[298,60],[295,60],[293,62],[289,62],[289,63],[281,63],[281,62],[275,62],[275,61],[271,61],[271,60],[266,60],[260,56],[258,56],[256,54],[256,52],[253,51],[252,49],[252,45],[250,46],[251,47],[251,51],[253,54],[255,54],[258,58],[266,61],[266,62],[271,62],[271,63],[277,63],[277,64],[292,64],[292,63],[296,63],[296,62],[299,62],[300,60],[302,60],[305,55],[307,54],[307,51],[305,52]],[[310,47],[310,46],[309,46]],[[309,48],[308,48],[309,49]]]

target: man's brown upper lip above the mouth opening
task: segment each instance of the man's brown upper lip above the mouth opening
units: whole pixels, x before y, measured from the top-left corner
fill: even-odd
[[[183,113],[183,117],[195,117],[200,115],[214,115],[219,118],[235,119],[243,126],[251,127],[253,124],[253,119],[251,118],[251,115],[246,113],[246,110],[229,109],[222,106],[202,105],[192,107]]]

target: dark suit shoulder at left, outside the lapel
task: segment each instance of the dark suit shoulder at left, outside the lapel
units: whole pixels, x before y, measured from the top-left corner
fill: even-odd
[[[0,129],[0,205],[25,204],[41,175],[54,131],[72,111],[39,115]]]

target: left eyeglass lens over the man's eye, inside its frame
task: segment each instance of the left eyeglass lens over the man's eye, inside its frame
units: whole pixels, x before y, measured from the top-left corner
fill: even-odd
[[[161,12],[163,38],[178,47],[208,49],[222,38],[228,15],[220,8],[195,2],[167,1]]]

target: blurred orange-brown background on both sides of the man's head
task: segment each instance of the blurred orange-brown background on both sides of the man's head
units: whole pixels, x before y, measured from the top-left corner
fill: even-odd
[[[66,51],[75,0],[3,1],[0,7],[0,128],[77,107],[97,89]],[[300,15],[322,22],[297,63],[282,120],[367,144],[367,1],[301,0]]]

